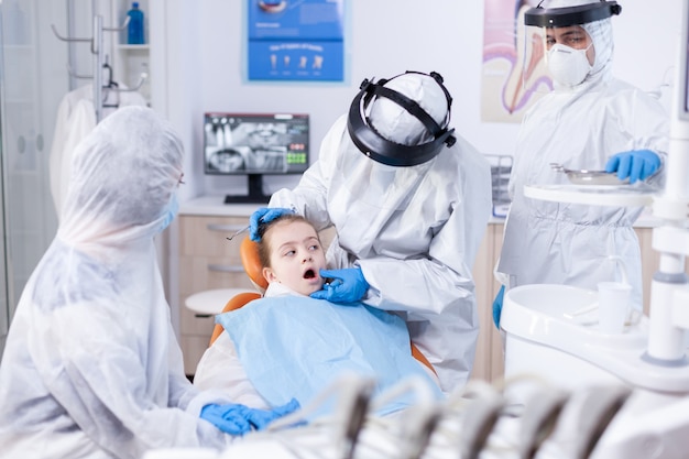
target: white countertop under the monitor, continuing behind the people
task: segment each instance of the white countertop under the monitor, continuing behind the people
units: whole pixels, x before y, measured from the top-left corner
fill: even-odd
[[[179,205],[179,215],[188,216],[211,216],[211,217],[250,217],[259,207],[265,207],[265,204],[225,204],[223,195],[199,196],[182,203]],[[504,218],[491,217],[489,223],[502,225]],[[655,228],[659,226],[661,220],[654,217],[650,207],[641,215],[634,227],[636,228]]]

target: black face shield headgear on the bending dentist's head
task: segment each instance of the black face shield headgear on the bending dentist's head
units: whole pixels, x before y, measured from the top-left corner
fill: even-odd
[[[406,72],[406,74],[420,74],[419,72]],[[347,129],[349,135],[357,147],[367,156],[379,163],[389,166],[415,166],[433,160],[444,145],[452,146],[457,139],[452,136],[453,129],[448,130],[447,125],[450,121],[450,107],[452,98],[449,91],[442,85],[442,77],[431,72],[430,74],[420,74],[433,77],[442,91],[447,100],[447,116],[439,125],[418,103],[408,97],[393,89],[386,88],[389,79],[381,79],[378,83],[364,79],[361,84],[360,91],[352,100],[349,107],[349,116],[347,119]],[[400,76],[400,75],[398,75]],[[394,77],[396,78],[396,77]],[[394,79],[391,78],[391,79]],[[420,145],[403,145],[384,139],[375,129],[369,125],[365,117],[365,110],[374,97],[384,97],[397,103],[418,119],[424,127],[433,133],[434,139]]]

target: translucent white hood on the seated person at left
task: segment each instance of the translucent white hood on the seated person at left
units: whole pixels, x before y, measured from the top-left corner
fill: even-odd
[[[183,147],[172,127],[145,107],[123,107],[77,146],[59,233],[70,242],[127,239],[168,222],[182,178]]]

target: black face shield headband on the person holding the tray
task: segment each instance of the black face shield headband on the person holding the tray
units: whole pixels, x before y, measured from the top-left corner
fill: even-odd
[[[600,21],[622,12],[616,1],[601,0],[598,3],[569,8],[543,8],[540,4],[524,13],[524,24],[539,28],[566,28]]]

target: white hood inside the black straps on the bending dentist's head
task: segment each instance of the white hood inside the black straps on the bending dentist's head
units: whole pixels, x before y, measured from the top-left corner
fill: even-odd
[[[414,100],[440,127],[447,124],[447,97],[438,81],[431,76],[407,73],[392,78],[383,86]],[[384,97],[379,97],[371,102],[369,122],[383,138],[403,145],[418,145],[434,139],[415,116]]]

